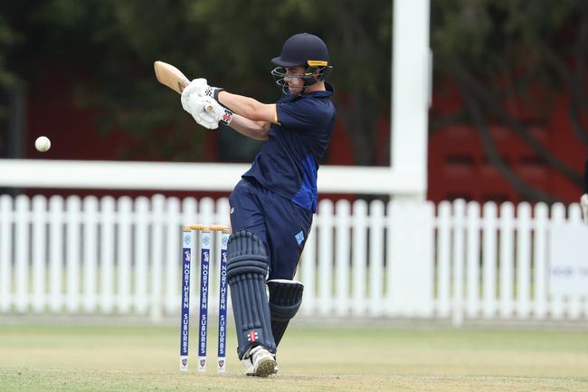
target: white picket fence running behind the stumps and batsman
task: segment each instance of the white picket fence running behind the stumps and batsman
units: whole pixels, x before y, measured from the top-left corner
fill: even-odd
[[[0,313],[178,314],[181,227],[227,225],[228,211],[226,198],[0,196]],[[548,287],[549,231],[580,221],[577,205],[323,200],[297,272],[301,314],[588,320],[586,296]]]

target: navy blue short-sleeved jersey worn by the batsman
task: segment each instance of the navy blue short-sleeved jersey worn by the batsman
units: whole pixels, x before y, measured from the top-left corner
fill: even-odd
[[[283,94],[276,103],[278,124],[271,124],[251,168],[242,176],[317,212],[318,162],[333,133],[336,110],[330,97],[333,88],[298,96]]]

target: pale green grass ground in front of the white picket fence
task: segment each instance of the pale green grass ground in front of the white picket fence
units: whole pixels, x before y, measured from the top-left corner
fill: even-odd
[[[213,329],[199,374],[191,332],[180,373],[179,327],[0,325],[0,391],[588,391],[585,330],[295,325],[272,378],[242,376],[234,331],[218,375]]]

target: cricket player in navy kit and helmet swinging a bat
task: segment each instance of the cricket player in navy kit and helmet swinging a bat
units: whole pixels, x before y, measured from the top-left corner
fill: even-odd
[[[293,277],[317,212],[318,162],[336,116],[326,82],[332,66],[318,36],[292,35],[271,62],[282,91],[276,103],[211,87],[205,79],[182,93],[182,106],[205,128],[222,122],[265,140],[229,199],[227,277],[237,353],[246,374],[258,377],[277,373],[278,345],[302,301],[303,285]]]

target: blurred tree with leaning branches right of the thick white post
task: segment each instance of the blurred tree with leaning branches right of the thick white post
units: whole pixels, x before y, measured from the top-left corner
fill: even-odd
[[[527,200],[554,202],[555,197],[527,184],[500,157],[488,125],[516,132],[545,163],[576,186],[580,174],[541,144],[519,118],[517,108],[549,113],[555,93],[570,91],[569,117],[574,132],[588,145],[583,118],[586,96],[588,4],[581,1],[450,0],[432,2],[432,48],[436,81],[450,75],[464,107],[450,116],[433,114],[432,131],[448,121],[475,127],[488,160]],[[536,87],[547,91],[536,95]]]

